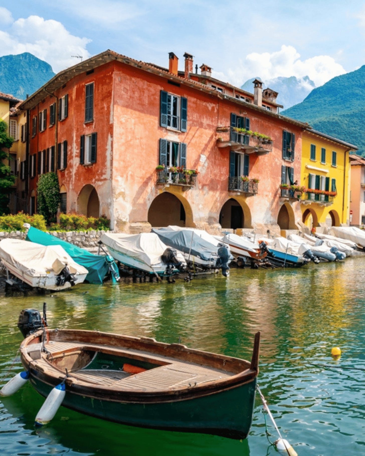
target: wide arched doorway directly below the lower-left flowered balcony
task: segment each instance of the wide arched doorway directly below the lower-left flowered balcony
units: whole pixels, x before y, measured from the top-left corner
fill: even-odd
[[[152,227],[191,226],[192,210],[185,198],[180,200],[176,195],[163,192],[158,195],[148,209],[148,222]]]

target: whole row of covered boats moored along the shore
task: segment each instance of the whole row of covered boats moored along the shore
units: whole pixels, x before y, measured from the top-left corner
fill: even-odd
[[[365,233],[359,228],[331,230],[332,234],[265,238],[254,233],[214,236],[195,228],[168,226],[153,228],[151,233],[104,233],[104,254],[96,255],[29,228],[25,241],[7,238],[0,242],[0,259],[8,273],[31,287],[63,290],[84,280],[101,284],[107,276],[117,281],[120,273],[170,281],[177,273],[186,272],[188,277],[221,269],[228,276],[232,261],[238,266],[300,267],[310,261],[343,260],[365,248]]]

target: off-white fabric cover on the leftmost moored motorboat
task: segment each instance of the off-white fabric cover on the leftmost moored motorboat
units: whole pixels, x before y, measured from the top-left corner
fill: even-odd
[[[0,258],[31,277],[47,274],[47,271],[53,269],[52,264],[57,259],[67,264],[72,273],[88,274],[88,270],[75,263],[60,245],[41,245],[20,239],[3,239],[0,241]]]

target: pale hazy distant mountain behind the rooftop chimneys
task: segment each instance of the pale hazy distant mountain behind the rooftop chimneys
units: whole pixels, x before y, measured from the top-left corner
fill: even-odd
[[[252,78],[246,81],[241,88],[246,92],[253,93],[252,81],[254,79],[255,78]],[[278,78],[267,79],[263,83],[263,87],[270,87],[272,90],[275,90],[275,92],[278,92],[277,103],[282,104],[284,109],[288,109],[294,104],[303,101],[308,93],[315,88],[315,85],[308,76],[304,76],[303,78],[296,78],[295,76],[284,78],[279,76]]]

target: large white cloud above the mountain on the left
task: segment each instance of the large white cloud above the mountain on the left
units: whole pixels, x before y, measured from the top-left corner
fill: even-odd
[[[90,57],[86,49],[90,41],[71,35],[61,22],[39,16],[18,19],[7,32],[0,31],[1,55],[31,52],[56,73],[79,62],[72,55]]]

